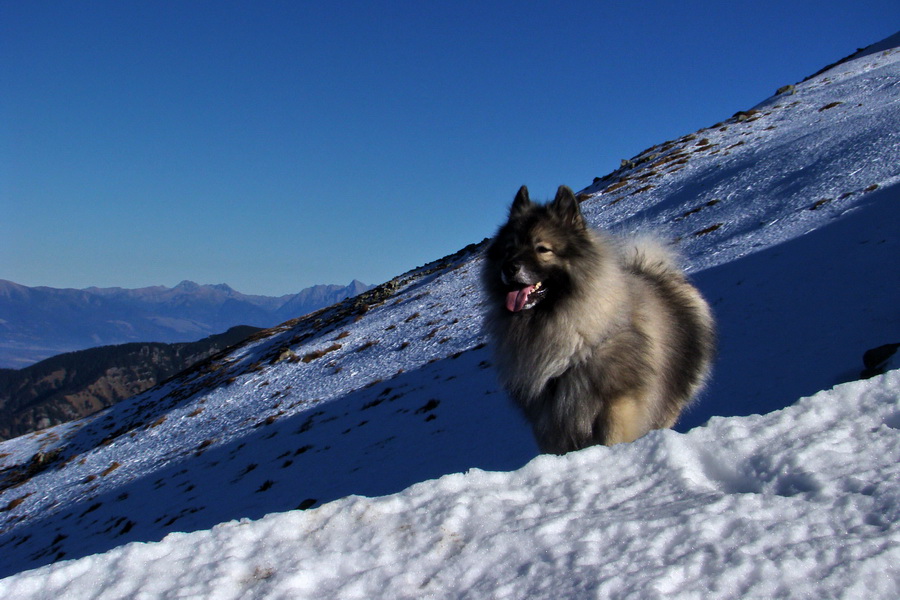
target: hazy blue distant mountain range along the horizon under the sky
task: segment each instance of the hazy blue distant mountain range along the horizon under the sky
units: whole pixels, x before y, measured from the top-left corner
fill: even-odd
[[[182,281],[173,288],[26,287],[0,280],[0,367],[131,342],[189,342],[235,325],[272,327],[369,289],[317,285],[280,297]]]

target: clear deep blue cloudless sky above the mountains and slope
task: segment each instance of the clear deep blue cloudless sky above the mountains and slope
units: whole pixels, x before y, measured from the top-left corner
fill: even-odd
[[[0,279],[381,283],[900,29],[900,2],[0,1]]]

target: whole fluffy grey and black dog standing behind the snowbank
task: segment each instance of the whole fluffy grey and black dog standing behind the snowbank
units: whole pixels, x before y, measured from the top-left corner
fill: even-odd
[[[543,452],[671,427],[707,377],[712,314],[671,253],[592,231],[568,187],[546,205],[519,190],[482,281],[501,380]]]

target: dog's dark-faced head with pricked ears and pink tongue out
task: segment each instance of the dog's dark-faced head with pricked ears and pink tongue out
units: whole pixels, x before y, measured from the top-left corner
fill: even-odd
[[[535,204],[522,186],[488,248],[485,284],[509,312],[549,307],[571,290],[572,262],[591,244],[571,189],[560,186],[553,202]]]

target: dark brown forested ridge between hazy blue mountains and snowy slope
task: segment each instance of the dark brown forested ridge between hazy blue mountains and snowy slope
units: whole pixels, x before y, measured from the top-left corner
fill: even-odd
[[[0,369],[0,439],[92,415],[259,331],[240,325],[197,342],[103,346]]]

